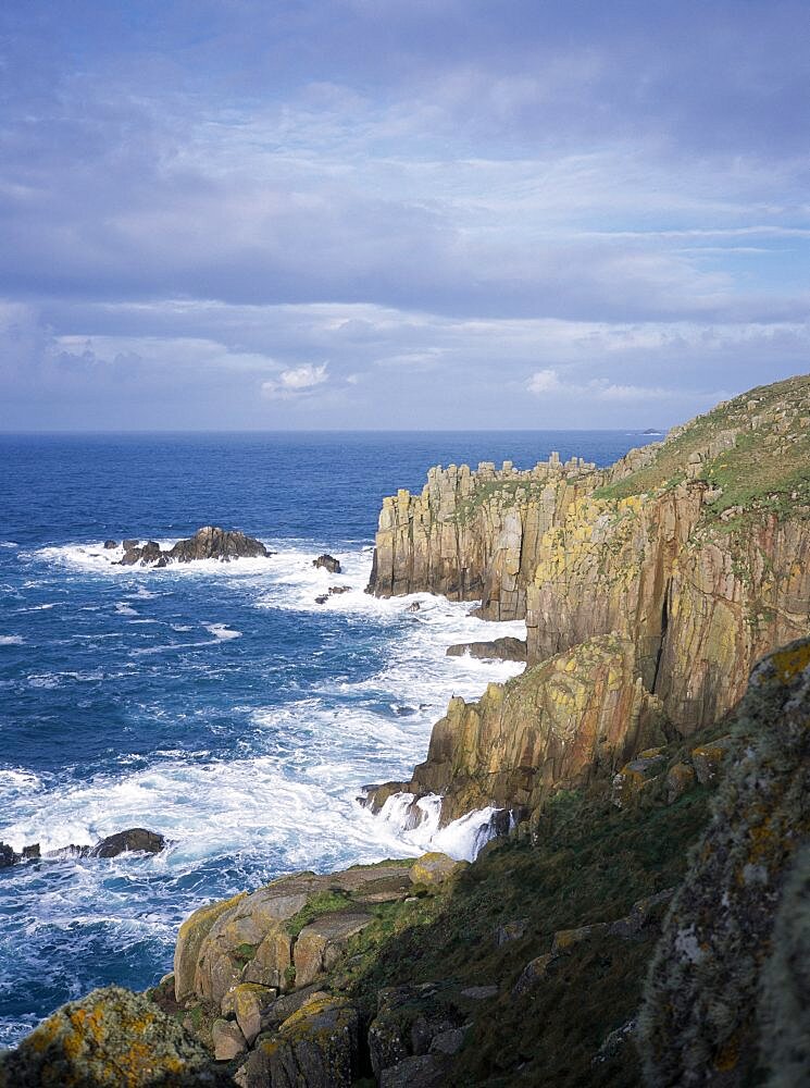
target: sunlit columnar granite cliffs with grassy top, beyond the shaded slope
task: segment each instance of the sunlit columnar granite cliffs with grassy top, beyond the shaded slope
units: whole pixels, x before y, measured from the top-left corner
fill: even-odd
[[[421,497],[386,500],[372,588],[481,595],[493,619],[525,609],[526,673],[453,700],[404,787],[444,794],[444,820],[581,780],[646,743],[650,707],[689,734],[810,631],[810,378],[719,405],[605,471],[432,470]],[[570,705],[553,702],[560,670],[581,683]]]

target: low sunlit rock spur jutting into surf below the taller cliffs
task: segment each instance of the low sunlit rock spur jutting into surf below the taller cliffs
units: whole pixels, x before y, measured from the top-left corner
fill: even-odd
[[[489,684],[477,703],[452,698],[410,782],[372,790],[378,812],[395,792],[441,794],[443,826],[472,809],[534,808],[553,788],[614,774],[666,727],[627,639],[601,635]]]

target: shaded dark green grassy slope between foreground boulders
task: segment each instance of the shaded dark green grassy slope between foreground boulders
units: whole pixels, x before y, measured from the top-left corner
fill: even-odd
[[[668,765],[723,731],[720,724],[672,742]],[[710,791],[695,786],[673,805],[664,793],[662,778],[620,811],[607,781],[559,791],[537,818],[533,842],[513,837],[488,848],[449,892],[376,905],[335,985],[371,1018],[379,988],[437,984],[438,999],[473,1023],[449,1081],[459,1088],[639,1085],[632,1044],[603,1063],[591,1059],[638,1006],[653,934],[638,942],[601,937],[562,959],[534,991],[514,998],[511,990],[525,964],[550,950],[556,930],[613,922],[680,882]],[[516,919],[526,919],[525,936],[498,945],[498,926]],[[491,1001],[459,998],[463,987],[488,984],[499,987]]]

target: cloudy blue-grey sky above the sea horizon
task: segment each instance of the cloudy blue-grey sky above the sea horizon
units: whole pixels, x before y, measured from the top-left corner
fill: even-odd
[[[807,0],[4,0],[0,430],[670,426],[810,371]]]

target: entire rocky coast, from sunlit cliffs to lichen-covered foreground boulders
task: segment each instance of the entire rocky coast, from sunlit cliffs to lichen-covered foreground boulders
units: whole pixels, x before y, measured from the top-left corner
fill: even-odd
[[[809,424],[810,379],[792,379],[611,469],[451,466],[386,499],[370,592],[479,597],[528,636],[452,647],[525,652],[526,669],[452,698],[426,761],[367,803],[438,798],[441,824],[490,807],[504,833],[472,865],[292,874],[202,906],[158,987],[64,1006],[0,1058],[0,1088],[122,1070],[240,1088],[803,1083]]]

